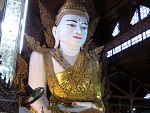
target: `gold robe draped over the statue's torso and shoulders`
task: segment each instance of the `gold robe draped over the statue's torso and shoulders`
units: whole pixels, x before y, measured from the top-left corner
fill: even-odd
[[[64,68],[64,72],[54,73],[52,56]],[[44,53],[43,58],[52,102],[69,104],[85,101],[97,103],[104,108],[98,61],[87,57],[83,51],[79,53],[73,66],[69,66],[56,50]]]

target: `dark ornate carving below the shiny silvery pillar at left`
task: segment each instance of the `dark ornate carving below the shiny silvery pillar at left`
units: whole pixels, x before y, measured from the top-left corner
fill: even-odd
[[[19,113],[19,87],[6,83],[0,73],[0,112]]]

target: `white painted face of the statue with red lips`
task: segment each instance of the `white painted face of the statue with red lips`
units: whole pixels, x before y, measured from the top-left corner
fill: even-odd
[[[87,38],[87,19],[73,14],[62,17],[58,26],[53,30],[55,39],[67,46],[82,47]]]

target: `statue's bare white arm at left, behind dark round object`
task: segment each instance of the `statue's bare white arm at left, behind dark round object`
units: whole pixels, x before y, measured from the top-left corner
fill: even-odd
[[[44,71],[43,55],[36,51],[33,51],[30,56],[28,84],[33,89],[37,87],[44,87],[45,89],[45,94],[31,104],[31,107],[37,112],[40,112],[40,109],[43,108],[44,113],[50,113],[50,111],[47,110],[49,102],[46,97],[46,75]]]

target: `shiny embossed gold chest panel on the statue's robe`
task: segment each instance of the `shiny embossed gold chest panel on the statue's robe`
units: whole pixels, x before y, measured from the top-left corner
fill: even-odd
[[[75,72],[73,69],[56,74],[57,83],[63,90],[83,92],[89,89],[92,75],[89,72]]]

